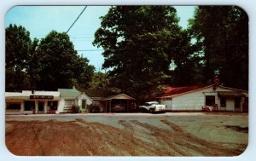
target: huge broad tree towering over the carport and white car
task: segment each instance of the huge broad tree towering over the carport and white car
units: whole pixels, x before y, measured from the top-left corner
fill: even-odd
[[[181,27],[171,6],[114,6],[101,17],[94,45],[104,49],[103,68],[114,87],[137,100],[150,99],[169,78]],[[173,48],[175,47],[175,48]]]

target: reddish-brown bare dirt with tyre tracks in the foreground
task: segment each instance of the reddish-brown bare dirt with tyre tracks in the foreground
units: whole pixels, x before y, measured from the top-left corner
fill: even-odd
[[[6,145],[25,156],[236,156],[240,149],[202,140],[177,124],[160,120],[162,129],[137,120],[107,124],[74,121],[7,121]]]

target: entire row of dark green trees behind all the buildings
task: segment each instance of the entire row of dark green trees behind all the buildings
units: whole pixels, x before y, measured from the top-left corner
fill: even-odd
[[[94,72],[67,33],[31,40],[6,28],[6,91],[71,88],[119,91],[146,101],[165,85],[220,83],[248,89],[248,16],[236,6],[198,6],[187,29],[172,6],[112,6],[93,44],[106,73]]]

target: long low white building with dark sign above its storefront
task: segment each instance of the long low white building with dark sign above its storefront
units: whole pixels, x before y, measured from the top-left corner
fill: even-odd
[[[61,113],[69,112],[72,106],[79,106],[83,112],[92,102],[90,97],[75,88],[5,92],[6,114]]]

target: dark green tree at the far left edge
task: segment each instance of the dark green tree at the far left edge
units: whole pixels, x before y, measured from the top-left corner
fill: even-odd
[[[20,91],[30,87],[26,72],[32,41],[22,26],[11,24],[5,31],[5,90]]]

